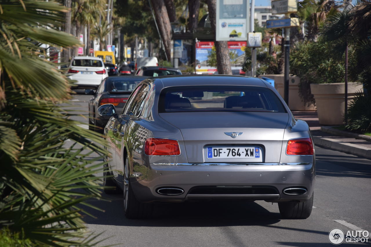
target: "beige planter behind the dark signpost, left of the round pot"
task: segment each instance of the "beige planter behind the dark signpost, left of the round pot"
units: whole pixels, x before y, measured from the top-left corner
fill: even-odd
[[[284,75],[259,75],[259,78],[266,77],[275,80],[275,89],[283,98]],[[315,111],[315,105],[305,105],[299,97],[299,76],[289,77],[289,108],[291,111]]]

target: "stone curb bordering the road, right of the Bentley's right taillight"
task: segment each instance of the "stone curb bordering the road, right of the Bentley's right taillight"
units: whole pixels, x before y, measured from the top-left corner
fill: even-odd
[[[365,148],[364,146],[359,146],[347,142],[341,142],[336,139],[327,137],[313,136],[313,141],[314,144],[317,146],[371,159],[371,148]]]

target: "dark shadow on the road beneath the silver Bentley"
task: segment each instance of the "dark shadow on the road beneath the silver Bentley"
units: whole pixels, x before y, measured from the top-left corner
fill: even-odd
[[[271,225],[280,221],[279,213],[271,213],[256,202],[207,201],[155,204],[153,217],[128,220],[124,216],[121,195],[105,195],[111,202],[89,201],[105,212],[86,209],[97,218],[84,217],[88,224],[156,226],[156,227],[215,227],[234,225]]]

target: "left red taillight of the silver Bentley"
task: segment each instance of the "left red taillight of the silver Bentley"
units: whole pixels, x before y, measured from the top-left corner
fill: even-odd
[[[180,148],[177,140],[147,138],[144,142],[144,153],[147,155],[180,155]]]

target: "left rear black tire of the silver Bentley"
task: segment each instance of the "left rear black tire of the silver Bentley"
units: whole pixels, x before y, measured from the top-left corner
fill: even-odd
[[[153,204],[139,202],[135,198],[128,178],[128,157],[124,164],[124,213],[128,219],[148,218],[152,215]]]

